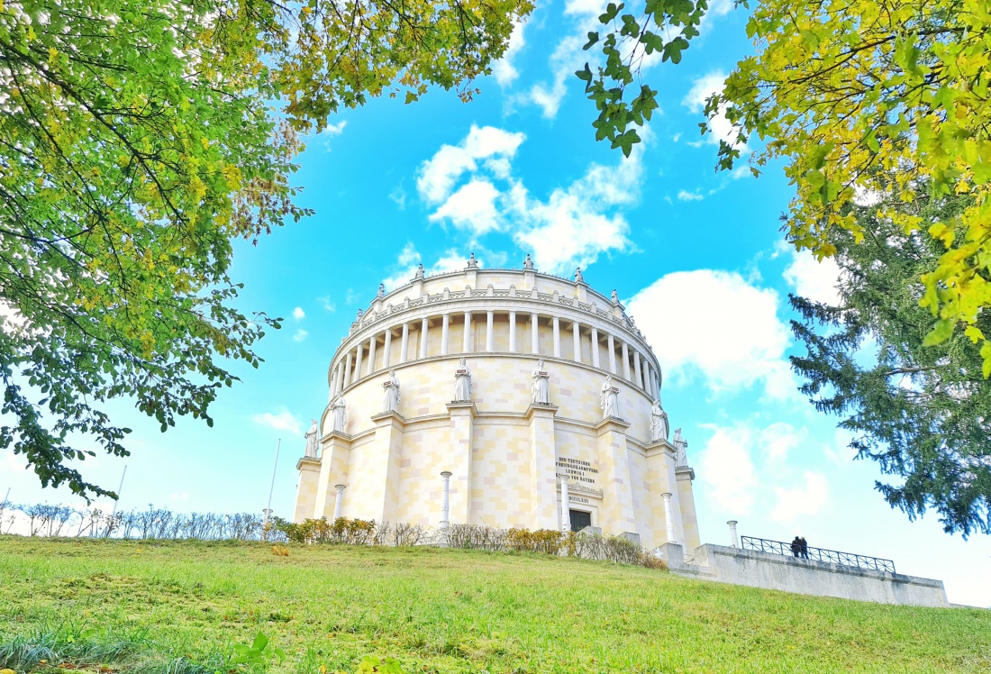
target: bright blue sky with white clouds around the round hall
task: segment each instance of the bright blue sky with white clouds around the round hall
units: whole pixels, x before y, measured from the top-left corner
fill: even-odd
[[[167,433],[126,401],[133,455],[98,457],[87,477],[116,489],[120,507],[261,510],[275,446],[276,512],[291,513],[302,431],[327,399],[326,371],[359,308],[386,285],[460,268],[538,269],[615,287],[664,368],[664,406],[683,427],[696,468],[704,542],[739,530],[894,559],[899,571],[945,581],[951,602],[991,606],[991,539],[962,541],[936,516],[909,522],[874,491],[872,464],[854,462],[835,418],[796,392],[787,356],[787,293],[828,297],[834,270],[782,246],[791,189],[780,168],[759,178],[717,173],[702,138],[702,101],[750,50],[745,14],[717,0],[677,66],[647,80],[661,109],[629,159],[596,143],[594,105],[572,75],[598,2],[541,3],[517,28],[509,56],[468,104],[432,91],[412,105],[376,100],[310,139],[296,183],[316,210],[260,242],[238,245],[240,305],[285,318],[255,371],[212,408],[213,428],[183,419]],[[717,129],[718,130],[718,129]],[[23,462],[0,454],[0,497],[75,503],[42,490]],[[983,580],[982,580],[983,579]]]

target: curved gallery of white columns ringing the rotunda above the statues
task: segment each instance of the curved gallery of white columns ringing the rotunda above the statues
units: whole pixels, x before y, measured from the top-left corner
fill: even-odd
[[[451,325],[451,315],[458,312],[446,312],[441,314],[441,329],[440,329],[440,355],[446,356],[449,354],[450,348],[450,325]],[[501,312],[499,312],[501,313]],[[509,318],[509,353],[518,353],[517,343],[516,343],[516,311],[508,311]],[[533,312],[526,312],[524,315],[528,315],[528,322],[530,324],[530,354],[539,355],[540,354],[540,315]],[[473,344],[474,331],[472,330],[472,312],[464,311],[464,324],[462,329],[462,346],[461,353],[476,353]],[[558,316],[552,316],[550,320],[551,332],[553,337],[552,342],[552,354],[555,358],[561,358],[561,319]],[[331,395],[343,391],[348,386],[355,384],[363,377],[368,377],[377,371],[376,365],[376,351],[379,344],[379,339],[384,336],[384,354],[383,363],[381,368],[386,369],[392,365],[390,363],[391,351],[392,351],[392,330],[397,326],[390,326],[383,332],[377,333],[370,337],[367,341],[363,341],[358,344],[358,346],[350,351],[344,356],[340,361],[338,361],[337,367],[334,369],[334,373],[331,381]],[[427,335],[429,333],[430,319],[423,318],[419,327],[419,355],[418,358],[423,359],[427,357]],[[591,355],[592,363],[591,365],[595,368],[602,367],[600,364],[600,337],[599,329],[596,326],[589,327],[589,336],[591,339]],[[582,357],[582,324],[577,321],[572,321],[572,353],[573,358],[576,362],[584,363],[585,359]],[[401,342],[399,345],[398,362],[395,365],[402,365],[410,359],[409,353],[409,333],[411,328],[411,322],[406,321],[402,323],[401,328]],[[616,363],[616,338],[611,333],[606,333],[606,353],[608,354],[608,371],[616,376],[621,376],[627,382],[630,382],[637,388],[641,389],[651,397],[657,397],[659,392],[658,387],[658,377],[651,364],[650,360],[641,353],[634,345],[627,343],[625,340],[620,340],[619,343],[619,356],[621,360],[621,365]],[[367,362],[366,362],[366,344],[368,345],[367,350]],[[485,351],[482,353],[492,353],[495,351],[495,311],[486,312],[486,340],[485,340]],[[632,364],[632,368],[630,365]],[[365,366],[363,371],[362,366]],[[622,368],[620,374],[618,368]]]

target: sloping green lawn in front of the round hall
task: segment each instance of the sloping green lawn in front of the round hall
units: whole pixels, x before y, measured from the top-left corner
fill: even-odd
[[[353,672],[365,655],[394,656],[410,674],[991,671],[987,611],[812,598],[531,554],[289,551],[0,537],[0,668],[53,664],[41,650],[5,664],[20,644],[85,671],[102,662],[200,674],[262,631],[287,652],[272,669],[286,673]]]

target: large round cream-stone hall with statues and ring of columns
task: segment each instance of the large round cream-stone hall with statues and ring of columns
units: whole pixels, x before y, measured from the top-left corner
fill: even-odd
[[[421,268],[341,341],[294,519],[594,526],[693,550],[695,473],[660,373],[615,291],[580,272]]]

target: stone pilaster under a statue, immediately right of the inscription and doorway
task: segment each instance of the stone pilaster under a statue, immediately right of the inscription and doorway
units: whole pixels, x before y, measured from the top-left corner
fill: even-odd
[[[608,533],[639,533],[629,484],[629,450],[626,448],[629,423],[610,416],[595,428],[599,434],[599,460],[602,462],[602,521],[608,522],[613,529]]]

